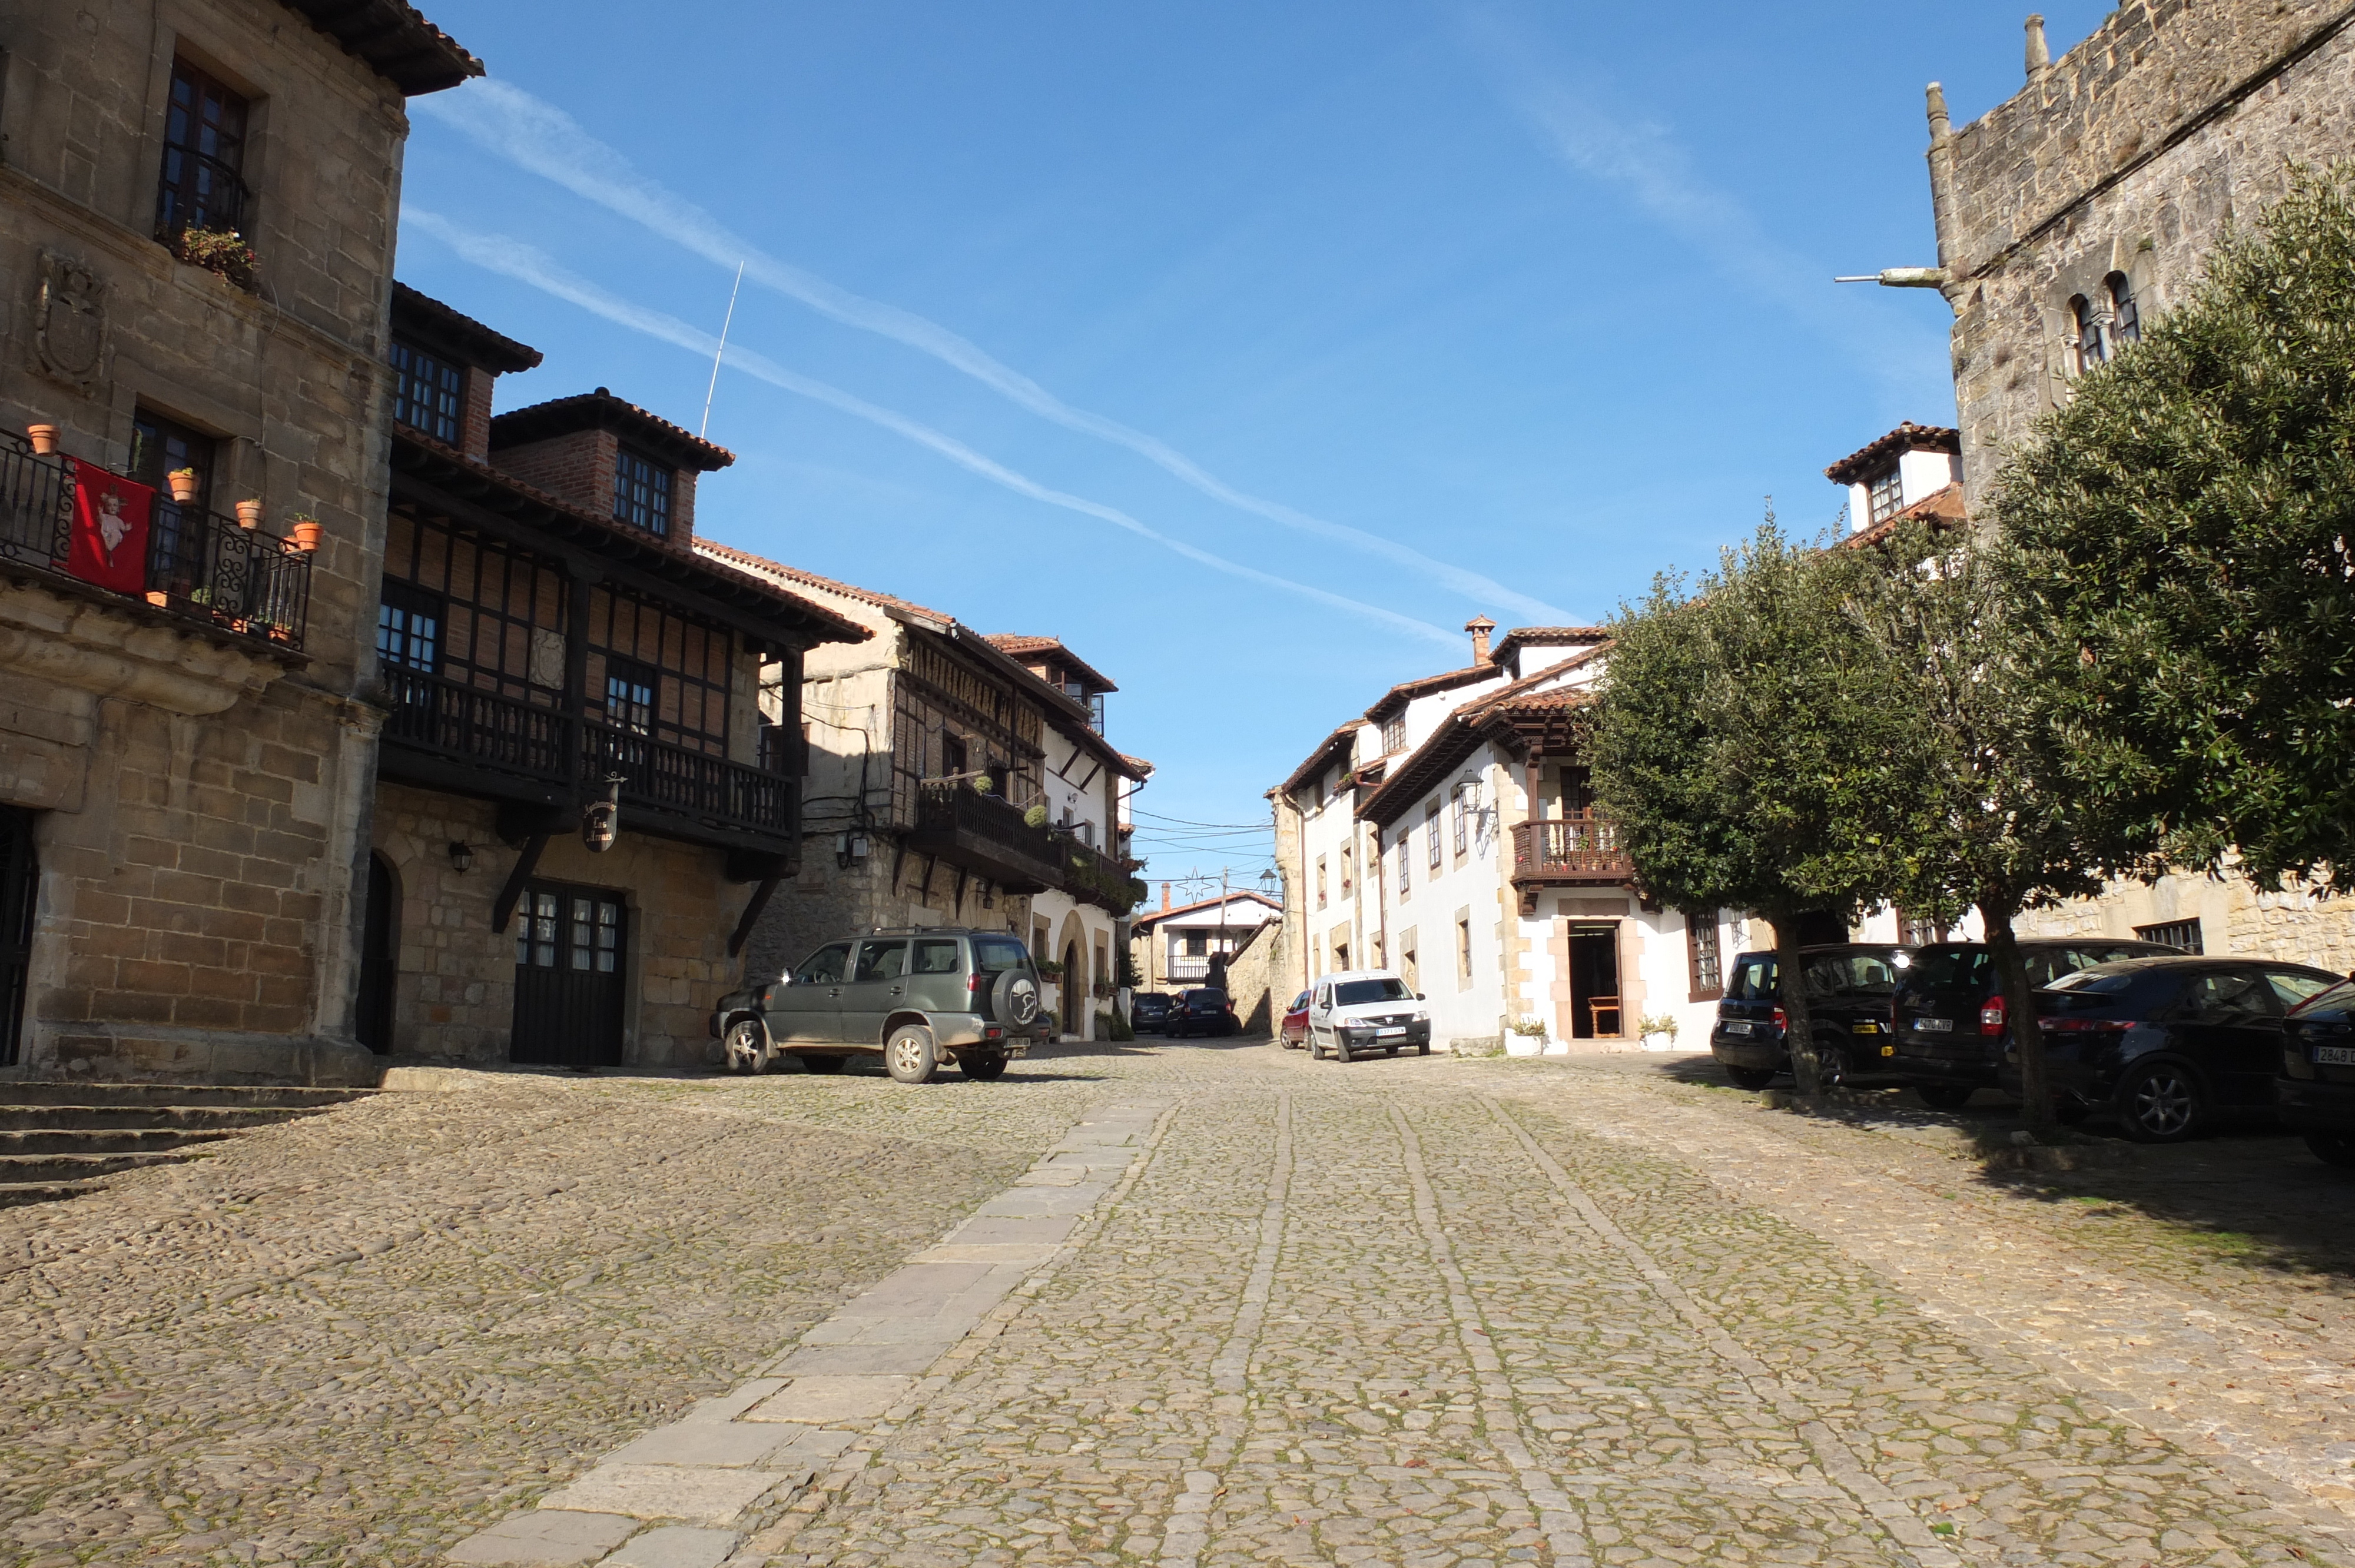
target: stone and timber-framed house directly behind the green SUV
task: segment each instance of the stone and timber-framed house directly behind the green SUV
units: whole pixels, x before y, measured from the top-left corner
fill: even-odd
[[[1112,1005],[1119,921],[1145,897],[1119,833],[1121,796],[1152,768],[1095,730],[1102,676],[1048,680],[940,610],[702,542],[867,629],[801,669],[808,852],[791,899],[754,928],[747,972],[777,975],[843,932],[980,925],[1062,965],[1048,1012],[1095,1036]],[[1050,638],[1003,638],[1046,669]],[[1074,690],[1076,687],[1076,690]],[[784,702],[784,692],[772,695]],[[1050,918],[1053,916],[1053,918]]]

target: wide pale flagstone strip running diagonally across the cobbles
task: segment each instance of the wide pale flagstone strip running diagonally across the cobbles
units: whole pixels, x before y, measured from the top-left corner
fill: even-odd
[[[855,1443],[921,1410],[926,1377],[982,1328],[1145,1151],[1163,1104],[1116,1102],[1015,1187],[801,1335],[763,1377],[612,1450],[586,1474],[447,1552],[450,1563],[718,1568],[749,1530]],[[853,1464],[855,1467],[855,1464]],[[782,1544],[782,1542],[780,1542]],[[765,1561],[768,1540],[754,1561]]]

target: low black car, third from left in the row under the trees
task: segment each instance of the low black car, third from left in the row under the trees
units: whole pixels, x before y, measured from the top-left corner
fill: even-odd
[[[2129,958],[2037,991],[2054,1111],[2115,1111],[2145,1144],[2200,1137],[2233,1111],[2270,1111],[2282,1022],[2339,977],[2256,958]],[[2009,1057],[2011,1052],[2006,1052]],[[2021,1088],[2016,1059],[2002,1085]]]

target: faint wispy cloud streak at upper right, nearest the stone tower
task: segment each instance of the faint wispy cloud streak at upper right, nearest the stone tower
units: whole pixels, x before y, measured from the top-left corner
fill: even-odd
[[[1948,391],[1945,339],[1870,292],[1842,290],[1832,268],[1771,238],[1757,214],[1703,174],[1674,132],[1613,104],[1571,66],[1550,61],[1533,28],[1488,5],[1462,12],[1472,54],[1538,144],[1571,170],[1627,195],[1733,287],[1839,344],[1891,391]]]

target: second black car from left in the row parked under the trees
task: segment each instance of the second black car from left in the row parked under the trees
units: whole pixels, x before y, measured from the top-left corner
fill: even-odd
[[[2122,958],[2181,956],[2162,942],[2108,937],[2028,937],[2021,958],[2028,984],[2044,989],[2063,975]],[[1931,942],[1915,949],[1889,1010],[1889,1067],[1924,1102],[1952,1111],[1976,1090],[1995,1088],[2004,1064],[2004,982],[1985,942]]]

